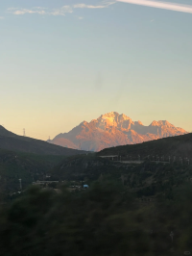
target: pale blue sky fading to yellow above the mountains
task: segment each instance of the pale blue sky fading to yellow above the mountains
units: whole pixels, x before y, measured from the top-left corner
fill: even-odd
[[[192,131],[192,2],[0,3],[0,124],[48,140],[118,112]]]

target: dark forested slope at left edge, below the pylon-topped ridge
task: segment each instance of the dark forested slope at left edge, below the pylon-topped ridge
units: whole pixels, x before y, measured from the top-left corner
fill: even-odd
[[[46,173],[64,158],[0,149],[0,193],[19,191],[19,179],[22,179],[25,190],[32,182],[43,180]]]

